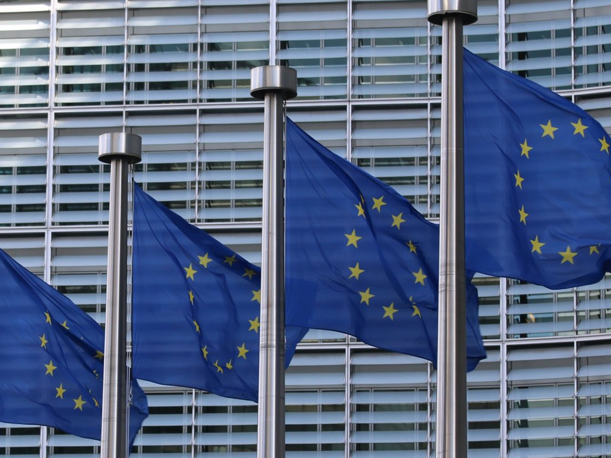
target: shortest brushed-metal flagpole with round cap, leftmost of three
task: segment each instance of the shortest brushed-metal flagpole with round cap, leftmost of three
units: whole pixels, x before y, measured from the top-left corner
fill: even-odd
[[[141,161],[142,138],[100,135],[98,160],[111,164],[108,273],[100,458],[126,458],[127,449],[127,194],[130,164]]]

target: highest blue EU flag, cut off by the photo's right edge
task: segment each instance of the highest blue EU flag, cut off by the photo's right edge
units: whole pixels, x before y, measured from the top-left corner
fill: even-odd
[[[611,139],[549,89],[464,50],[466,265],[552,289],[611,267]]]

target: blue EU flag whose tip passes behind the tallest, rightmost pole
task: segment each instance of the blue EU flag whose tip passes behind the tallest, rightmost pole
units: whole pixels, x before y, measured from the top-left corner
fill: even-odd
[[[439,227],[287,119],[287,324],[437,360]],[[467,289],[467,365],[485,358]]]

